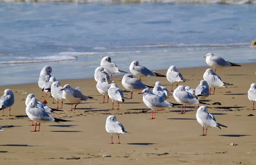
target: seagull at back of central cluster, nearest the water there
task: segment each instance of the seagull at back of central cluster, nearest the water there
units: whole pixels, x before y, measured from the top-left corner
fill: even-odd
[[[103,67],[108,74],[111,74],[111,81],[112,81],[113,74],[127,73],[125,71],[118,69],[118,67],[116,67],[116,64],[111,62],[111,58],[109,56],[102,58],[102,61],[100,62],[100,66]]]

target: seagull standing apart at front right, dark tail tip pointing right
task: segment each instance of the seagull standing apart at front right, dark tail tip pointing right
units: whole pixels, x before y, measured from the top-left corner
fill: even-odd
[[[201,124],[203,127],[202,136],[206,136],[208,127],[218,127],[219,129],[221,129],[221,127],[227,128],[227,126],[216,122],[215,117],[211,113],[208,113],[207,107],[204,105],[199,107],[198,110],[196,111],[196,119],[198,123]],[[205,134],[204,134],[204,127],[206,127]]]

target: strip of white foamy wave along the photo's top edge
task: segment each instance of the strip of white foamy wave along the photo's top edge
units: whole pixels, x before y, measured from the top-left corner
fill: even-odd
[[[0,2],[72,2],[72,3],[173,3],[173,4],[235,4],[256,3],[256,0],[0,0]]]

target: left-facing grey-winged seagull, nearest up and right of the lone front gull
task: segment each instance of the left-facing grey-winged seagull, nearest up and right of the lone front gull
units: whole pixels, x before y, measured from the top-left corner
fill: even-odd
[[[138,94],[143,94],[143,102],[147,107],[149,107],[152,110],[152,117],[149,119],[155,119],[156,111],[162,110],[162,108],[164,107],[181,105],[181,104],[174,104],[174,103],[165,101],[163,98],[152,93],[151,90],[148,88],[144,89],[141,93],[138,93]],[[154,117],[153,117],[153,113],[154,113]]]

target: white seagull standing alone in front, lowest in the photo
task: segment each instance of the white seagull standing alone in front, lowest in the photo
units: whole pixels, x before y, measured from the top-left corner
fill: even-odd
[[[118,136],[117,144],[120,144],[120,139],[119,139],[120,133],[129,133],[129,132],[125,131],[125,127],[121,123],[116,121],[116,116],[114,116],[114,115],[108,116],[108,118],[106,120],[105,127],[106,127],[106,131],[108,133],[111,133],[111,143],[110,144],[114,144],[112,134],[116,134]]]

